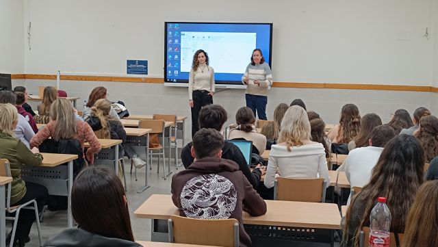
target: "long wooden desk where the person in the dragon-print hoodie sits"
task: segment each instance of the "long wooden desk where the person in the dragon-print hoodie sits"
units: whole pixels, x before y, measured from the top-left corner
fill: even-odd
[[[333,243],[332,230],[341,228],[341,216],[339,215],[339,209],[335,204],[302,203],[281,200],[265,200],[265,202],[268,211],[264,216],[252,217],[245,212],[242,215],[244,224],[246,224],[246,231],[252,239],[256,237],[251,234],[251,232],[253,232],[253,226],[251,225],[311,228],[314,229],[315,232],[329,231],[327,236],[332,234],[332,237],[328,243]],[[157,224],[157,220],[165,220],[165,222],[167,222],[170,216],[179,215],[179,211],[177,207],[173,205],[171,195],[153,194],[142,205],[140,205],[136,211],[134,211],[134,215],[137,218],[153,219],[152,240],[154,241],[155,239],[166,236],[163,232],[155,231],[154,224]],[[250,230],[248,231],[248,229]],[[272,229],[266,231],[271,230]],[[281,227],[277,230],[281,230]],[[289,229],[289,231],[291,231],[291,229]],[[256,241],[253,241],[253,244],[256,243]]]

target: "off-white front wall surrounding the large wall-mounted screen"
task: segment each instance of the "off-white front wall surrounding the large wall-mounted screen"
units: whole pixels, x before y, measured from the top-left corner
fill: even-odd
[[[28,1],[28,0],[27,0]],[[437,0],[370,1],[29,1],[33,49],[25,51],[25,73],[124,75],[125,60],[149,60],[149,75],[163,76],[164,22],[272,22],[275,81],[378,83],[438,86]],[[196,6],[196,9],[194,9]],[[430,39],[423,35],[429,27]],[[26,79],[29,92],[55,81]],[[113,101],[133,114],[155,112],[189,116],[187,88],[156,83],[61,81],[78,108],[95,86],[105,86]],[[435,109],[437,94],[378,90],[272,88],[268,118],[278,103],[303,99],[327,123],[339,120],[345,103],[361,114],[375,112],[383,122],[391,113],[419,105]],[[214,103],[229,112],[229,122],[244,105],[244,90],[226,90]],[[437,112],[437,111],[435,111]]]

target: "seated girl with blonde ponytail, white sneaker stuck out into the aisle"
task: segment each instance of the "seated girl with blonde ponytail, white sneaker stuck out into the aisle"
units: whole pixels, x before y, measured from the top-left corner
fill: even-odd
[[[132,159],[134,166],[140,167],[146,164],[146,162],[133,150],[133,148],[127,144],[127,135],[125,128],[120,120],[110,115],[111,102],[107,99],[98,99],[94,106],[91,107],[91,116],[87,122],[96,133],[97,138],[100,139],[118,139],[123,140],[122,151],[125,151],[125,155]]]

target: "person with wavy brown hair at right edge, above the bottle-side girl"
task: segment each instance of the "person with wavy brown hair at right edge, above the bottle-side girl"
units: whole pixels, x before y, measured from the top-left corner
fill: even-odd
[[[436,116],[423,117],[415,136],[422,144],[426,163],[438,156],[438,118]]]

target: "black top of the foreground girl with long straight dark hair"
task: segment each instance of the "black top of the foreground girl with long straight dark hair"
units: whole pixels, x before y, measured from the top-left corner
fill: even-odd
[[[125,239],[113,237],[103,237],[102,235],[89,233],[83,229],[65,229],[64,231],[53,235],[44,243],[44,246],[57,247],[141,247],[140,244]]]

